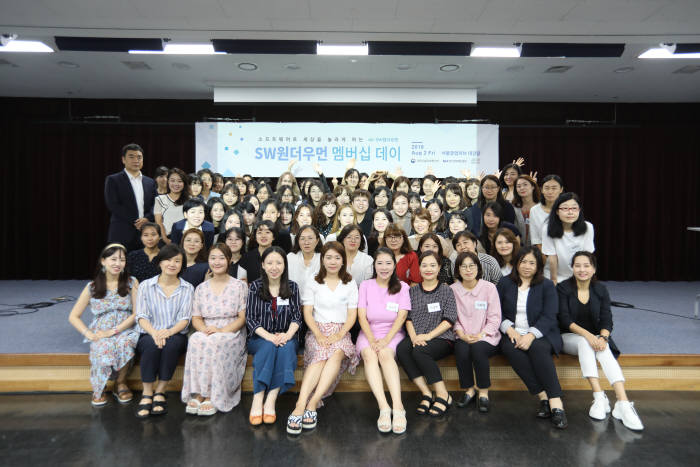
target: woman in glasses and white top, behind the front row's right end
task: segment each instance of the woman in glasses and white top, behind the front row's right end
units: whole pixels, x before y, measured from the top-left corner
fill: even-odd
[[[547,255],[549,277],[557,284],[573,276],[571,259],[577,251],[595,251],[593,224],[583,217],[581,201],[575,193],[564,193],[552,206],[542,253]]]

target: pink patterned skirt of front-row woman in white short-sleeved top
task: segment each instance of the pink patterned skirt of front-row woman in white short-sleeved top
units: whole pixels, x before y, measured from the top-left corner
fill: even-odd
[[[343,323],[316,323],[316,325],[321,331],[321,334],[323,334],[324,336],[331,336],[340,331],[340,329],[343,327]],[[343,336],[343,338],[340,339],[338,342],[335,342],[329,345],[328,347],[324,347],[321,344],[319,344],[316,340],[316,336],[314,336],[314,334],[311,331],[308,331],[306,333],[306,346],[304,347],[304,368],[308,368],[314,363],[325,362],[326,360],[331,358],[331,356],[333,356],[335,351],[338,349],[343,351],[343,353],[345,354],[345,358],[340,364],[340,371],[338,371],[338,376],[336,377],[335,381],[328,389],[328,391],[326,391],[326,393],[323,395],[324,398],[333,394],[333,391],[340,382],[340,377],[345,371],[349,371],[350,374],[353,375],[355,374],[357,365],[360,363],[360,358],[357,355],[357,351],[355,350],[355,345],[350,339],[349,332],[346,333]]]

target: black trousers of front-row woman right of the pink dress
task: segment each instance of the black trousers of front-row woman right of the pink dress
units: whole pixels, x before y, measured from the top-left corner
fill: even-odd
[[[442,374],[437,361],[452,352],[452,342],[446,339],[432,339],[427,345],[413,346],[411,338],[406,336],[396,346],[396,356],[410,379],[424,376],[428,384],[442,381]]]

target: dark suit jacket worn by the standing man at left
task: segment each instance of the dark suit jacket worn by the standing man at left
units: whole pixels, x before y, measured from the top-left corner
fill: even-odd
[[[156,182],[142,174],[141,183],[143,184],[143,216],[153,222],[153,203],[157,195]],[[134,221],[139,217],[139,208],[136,206],[136,196],[129,176],[124,170],[105,178],[105,204],[112,213],[107,234],[109,241],[129,243],[134,236],[138,237]]]

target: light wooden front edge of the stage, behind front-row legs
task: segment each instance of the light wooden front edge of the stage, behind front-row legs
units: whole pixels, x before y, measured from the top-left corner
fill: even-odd
[[[243,390],[252,390],[252,358],[243,379]],[[630,390],[700,390],[700,355],[640,354],[621,355],[619,359]],[[567,390],[589,389],[581,376],[578,359],[569,355],[555,358],[562,388]],[[178,365],[168,389],[182,387],[184,358]],[[299,356],[296,371],[298,390],[303,376],[303,357]],[[449,390],[459,389],[459,377],[453,356],[440,361],[440,370]],[[601,374],[605,389],[610,385]],[[416,390],[402,372],[402,389]],[[130,387],[140,388],[139,367],[135,365],[129,374]],[[513,372],[503,356],[491,359],[492,390],[525,390],[525,386]],[[90,391],[90,361],[87,354],[0,354],[0,392],[27,391]],[[355,375],[344,374],[337,391],[369,391],[362,364]]]

